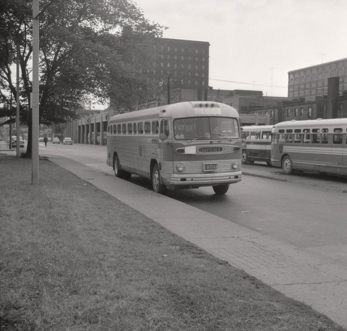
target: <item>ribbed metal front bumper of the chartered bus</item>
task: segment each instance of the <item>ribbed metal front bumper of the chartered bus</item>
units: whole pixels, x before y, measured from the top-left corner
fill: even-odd
[[[174,174],[171,175],[171,179],[168,186],[174,186],[175,188],[180,188],[180,186],[214,186],[221,184],[232,184],[237,183],[242,179],[241,171],[234,172],[217,172],[217,173],[199,173],[199,174]],[[182,188],[183,188],[182,187]]]

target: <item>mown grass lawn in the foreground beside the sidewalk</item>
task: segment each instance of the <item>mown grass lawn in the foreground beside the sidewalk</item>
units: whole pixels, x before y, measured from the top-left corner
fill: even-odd
[[[0,173],[2,331],[344,330],[48,160]]]

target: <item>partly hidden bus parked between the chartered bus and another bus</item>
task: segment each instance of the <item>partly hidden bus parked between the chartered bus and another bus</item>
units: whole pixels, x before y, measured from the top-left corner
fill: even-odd
[[[273,125],[243,126],[241,128],[242,163],[254,161],[271,165],[271,131]]]

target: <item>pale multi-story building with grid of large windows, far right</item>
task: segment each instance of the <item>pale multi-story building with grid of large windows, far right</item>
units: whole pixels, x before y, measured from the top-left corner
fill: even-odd
[[[339,77],[339,92],[347,91],[347,58],[288,72],[288,97],[328,94],[328,78]]]

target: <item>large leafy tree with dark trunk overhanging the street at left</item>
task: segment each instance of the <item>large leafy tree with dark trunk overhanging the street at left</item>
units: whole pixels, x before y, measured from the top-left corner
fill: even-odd
[[[132,0],[40,0],[40,10],[46,5],[40,14],[40,124],[76,118],[82,100],[111,99],[130,108],[149,99],[153,83],[135,69],[151,66],[158,56],[154,41],[163,26],[149,23]],[[0,19],[0,117],[15,120],[10,67],[18,43],[20,122],[29,128],[26,156],[31,156],[32,1],[0,0]]]

